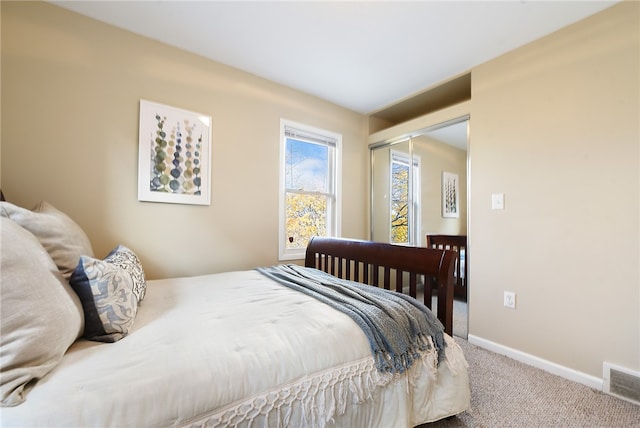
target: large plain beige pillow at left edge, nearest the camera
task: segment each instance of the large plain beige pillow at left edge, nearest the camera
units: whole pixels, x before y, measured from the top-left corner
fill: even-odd
[[[22,403],[82,334],[78,296],[38,239],[0,217],[0,394]]]

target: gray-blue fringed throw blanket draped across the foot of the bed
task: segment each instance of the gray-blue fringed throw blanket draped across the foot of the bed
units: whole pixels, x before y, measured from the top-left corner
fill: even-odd
[[[257,270],[351,317],[367,336],[381,372],[403,373],[431,344],[438,351],[438,361],[444,358],[444,327],[410,296],[297,265]]]

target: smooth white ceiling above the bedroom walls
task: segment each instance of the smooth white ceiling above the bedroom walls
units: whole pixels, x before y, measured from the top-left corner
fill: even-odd
[[[370,113],[617,1],[51,1]]]

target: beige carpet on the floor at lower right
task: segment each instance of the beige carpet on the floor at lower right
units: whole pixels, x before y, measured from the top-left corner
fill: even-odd
[[[471,409],[421,428],[640,427],[640,406],[456,341],[470,366]]]

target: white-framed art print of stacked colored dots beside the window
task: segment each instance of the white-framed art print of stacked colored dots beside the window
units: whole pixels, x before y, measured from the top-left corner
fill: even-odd
[[[140,100],[138,200],[211,204],[211,116]]]

